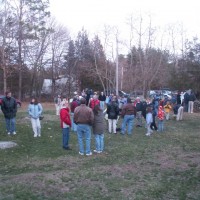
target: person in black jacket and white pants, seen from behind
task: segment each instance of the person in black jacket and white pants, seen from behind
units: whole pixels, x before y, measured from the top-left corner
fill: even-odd
[[[119,115],[119,106],[116,102],[116,98],[113,97],[111,99],[111,103],[107,105],[107,111],[106,113],[108,114],[108,131],[109,133],[117,133],[116,128],[117,128],[117,117]]]

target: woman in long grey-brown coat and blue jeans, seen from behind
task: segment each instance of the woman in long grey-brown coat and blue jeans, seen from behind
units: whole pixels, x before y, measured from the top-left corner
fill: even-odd
[[[93,133],[95,135],[95,153],[102,153],[104,150],[104,131],[105,131],[105,121],[103,110],[99,105],[94,107],[94,123],[93,123]]]

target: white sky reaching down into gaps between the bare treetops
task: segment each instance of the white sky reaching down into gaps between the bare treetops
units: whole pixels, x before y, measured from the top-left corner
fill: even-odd
[[[72,39],[77,37],[82,28],[88,32],[89,37],[93,38],[98,34],[101,38],[105,25],[117,27],[122,44],[118,46],[119,53],[124,54],[130,45],[130,26],[127,25],[130,16],[135,18],[141,15],[147,20],[149,14],[153,27],[164,30],[169,24],[179,24],[177,30],[181,31],[181,24],[185,39],[191,40],[194,36],[200,36],[200,0],[50,0],[50,8],[52,16],[68,28]],[[146,26],[148,27],[148,24]],[[175,36],[177,52],[181,49],[180,34],[181,32],[176,33]],[[161,35],[160,32],[160,36],[157,35],[156,38]],[[171,48],[169,38],[162,41],[165,42],[164,48]],[[114,43],[115,37],[112,38],[112,44]],[[111,49],[107,52],[110,52],[109,57],[112,57],[113,47],[109,48]]]

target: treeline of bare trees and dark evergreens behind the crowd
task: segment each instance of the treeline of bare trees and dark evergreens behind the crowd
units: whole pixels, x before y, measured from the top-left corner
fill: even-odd
[[[1,2],[1,93],[10,89],[19,99],[41,97],[44,79],[52,81],[52,96],[59,92],[71,97],[85,88],[109,91],[116,81],[127,92],[146,94],[163,87],[200,91],[200,43],[198,38],[187,40],[178,25],[161,33],[151,18],[144,23],[135,16],[127,23],[126,41],[116,27],[105,27],[92,38],[82,29],[72,39],[48,10],[48,0]],[[122,48],[127,53],[120,53]],[[61,77],[67,80],[62,89],[56,85]]]

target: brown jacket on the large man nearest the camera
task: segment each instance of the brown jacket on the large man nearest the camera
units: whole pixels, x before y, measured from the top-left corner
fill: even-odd
[[[85,104],[81,104],[74,110],[74,122],[76,124],[92,125],[94,121],[94,113],[91,108]]]

